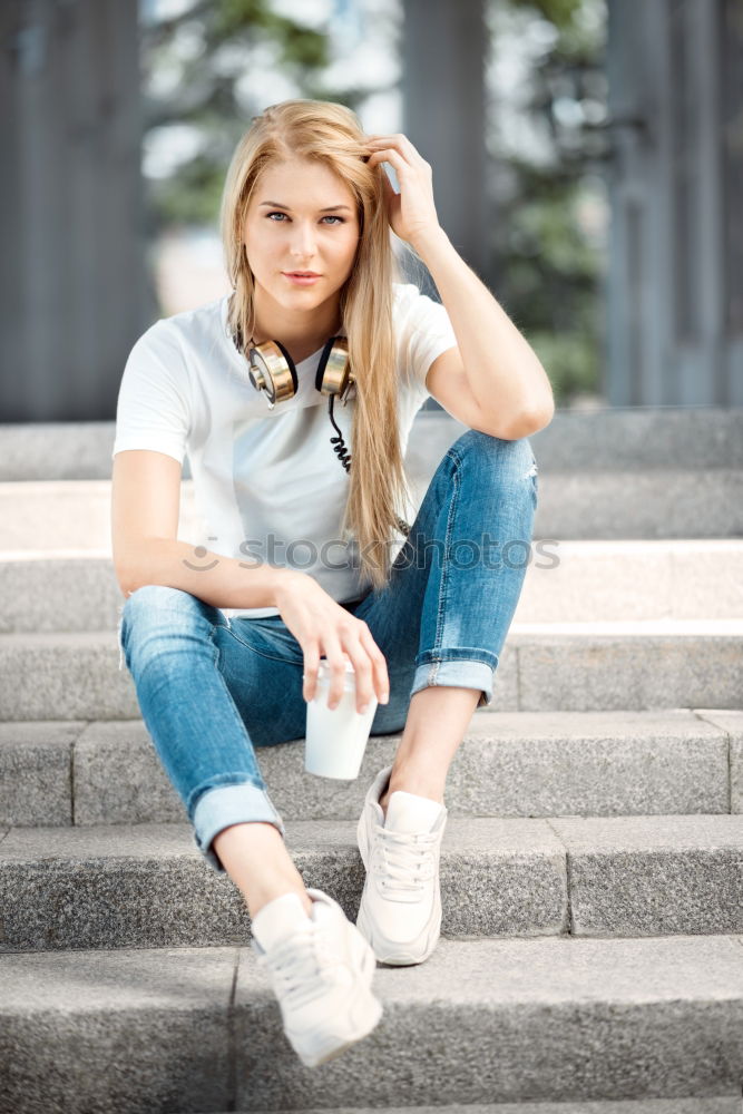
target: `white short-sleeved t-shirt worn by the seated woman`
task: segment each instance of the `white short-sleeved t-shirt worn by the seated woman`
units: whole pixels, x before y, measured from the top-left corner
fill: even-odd
[[[121,378],[111,456],[154,449],[183,465],[187,455],[203,537],[194,546],[246,563],[309,573],[338,603],[358,599],[354,538],[342,538],[350,477],[331,437],[329,397],[315,389],[322,349],[297,364],[297,393],[268,410],[227,330],[228,295],[155,322],[134,345]],[[443,305],[413,284],[394,283],[400,447],[428,398],[426,374],[457,344]],[[351,441],[352,397],[333,418]],[[353,467],[353,463],[352,463]],[[414,508],[402,517],[412,522]],[[400,535],[397,551],[404,544]],[[397,556],[391,549],[391,559]],[[197,561],[197,557],[194,557]],[[222,608],[225,616],[278,615],[276,607]]]

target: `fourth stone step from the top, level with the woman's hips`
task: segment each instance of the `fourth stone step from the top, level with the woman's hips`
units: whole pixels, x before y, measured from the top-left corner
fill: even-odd
[[[504,712],[735,709],[742,681],[741,619],[511,624],[493,704]],[[0,635],[0,720],[139,714],[114,631]],[[384,722],[383,707],[378,715]]]

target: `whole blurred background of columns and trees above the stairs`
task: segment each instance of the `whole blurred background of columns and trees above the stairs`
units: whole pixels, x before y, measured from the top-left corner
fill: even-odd
[[[290,97],[410,137],[559,408],[743,405],[741,0],[3,0],[0,19],[0,421],[115,418],[145,329],[228,290],[227,164]]]

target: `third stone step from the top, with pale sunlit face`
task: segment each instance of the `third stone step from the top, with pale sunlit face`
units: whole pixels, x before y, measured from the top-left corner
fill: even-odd
[[[115,631],[110,551],[0,553],[0,633]],[[743,539],[535,543],[515,623],[743,618]]]

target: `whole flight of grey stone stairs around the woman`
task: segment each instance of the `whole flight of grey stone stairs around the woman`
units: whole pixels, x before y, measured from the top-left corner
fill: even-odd
[[[463,431],[419,416],[417,494]],[[530,439],[532,560],[447,784],[442,939],[378,968],[381,1024],[311,1072],[118,668],[113,423],[0,427],[0,1114],[743,1114],[742,433],[662,408]],[[192,511],[186,478],[186,540]],[[302,740],[260,751],[305,881],[352,918],[398,742],[353,783],[305,774]]]

